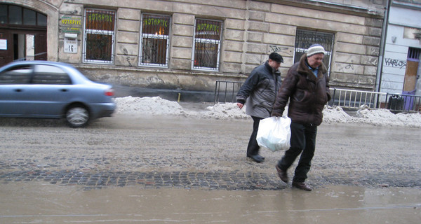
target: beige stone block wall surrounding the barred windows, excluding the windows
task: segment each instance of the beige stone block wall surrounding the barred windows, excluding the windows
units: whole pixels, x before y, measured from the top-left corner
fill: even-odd
[[[113,84],[213,91],[215,80],[245,80],[255,66],[267,60],[270,52],[283,55],[281,73],[285,76],[294,60],[295,31],[309,29],[335,36],[330,64],[332,86],[373,90],[375,85],[384,1],[16,0],[13,3],[47,13],[49,60],[74,64],[88,76]],[[77,37],[78,53],[64,52],[60,19],[72,16],[83,21],[85,8],[116,10],[114,64],[83,63],[83,28]],[[142,13],[171,16],[168,68],[139,65]],[[219,71],[192,70],[196,18],[223,22]]]

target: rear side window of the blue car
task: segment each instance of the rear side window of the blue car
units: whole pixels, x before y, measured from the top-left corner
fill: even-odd
[[[72,84],[69,75],[58,66],[37,64],[34,69],[34,84]]]

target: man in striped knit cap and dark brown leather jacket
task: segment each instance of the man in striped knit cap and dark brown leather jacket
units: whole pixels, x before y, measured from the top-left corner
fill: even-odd
[[[289,99],[290,148],[279,160],[276,171],[279,178],[288,183],[287,170],[301,153],[292,185],[302,190],[312,190],[305,180],[314,155],[317,126],[321,124],[323,108],[330,100],[329,78],[322,62],[324,55],[321,45],[311,45],[300,62],[290,67],[272,112],[272,116],[282,116]]]

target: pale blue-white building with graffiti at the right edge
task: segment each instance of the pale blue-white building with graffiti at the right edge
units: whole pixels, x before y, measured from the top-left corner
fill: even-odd
[[[421,95],[421,1],[390,1],[380,92]],[[383,100],[384,102],[384,100]]]

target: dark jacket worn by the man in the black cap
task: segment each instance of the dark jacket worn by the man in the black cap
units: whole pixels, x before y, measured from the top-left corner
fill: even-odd
[[[265,62],[255,67],[236,95],[236,101],[246,104],[246,113],[258,118],[269,118],[281,87],[281,73]]]

